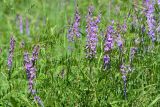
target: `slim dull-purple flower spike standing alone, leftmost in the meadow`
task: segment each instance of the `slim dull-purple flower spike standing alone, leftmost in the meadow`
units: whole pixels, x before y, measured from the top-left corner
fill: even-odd
[[[13,59],[13,53],[14,53],[14,47],[15,47],[15,40],[13,36],[10,39],[10,49],[9,49],[9,56],[8,56],[8,69],[11,70],[12,68],[12,59]]]

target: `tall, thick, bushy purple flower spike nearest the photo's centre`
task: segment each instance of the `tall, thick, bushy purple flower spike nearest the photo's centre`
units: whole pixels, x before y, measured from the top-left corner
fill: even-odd
[[[100,15],[98,15],[95,19],[93,19],[93,7],[89,7],[88,15],[87,15],[87,45],[86,45],[86,52],[87,58],[92,59],[96,56],[96,46],[98,42],[98,23],[100,23]]]

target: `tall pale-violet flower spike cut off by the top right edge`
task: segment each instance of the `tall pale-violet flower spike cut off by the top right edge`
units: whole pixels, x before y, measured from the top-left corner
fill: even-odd
[[[148,24],[148,35],[152,39],[152,42],[155,42],[155,19],[154,19],[154,3],[153,1],[146,0],[146,17]]]

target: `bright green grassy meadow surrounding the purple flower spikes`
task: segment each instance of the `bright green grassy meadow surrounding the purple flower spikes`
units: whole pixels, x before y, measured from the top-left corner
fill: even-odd
[[[131,15],[143,17],[141,0],[77,0],[81,15],[81,38],[73,44],[67,33],[73,22],[74,0],[1,0],[0,1],[0,106],[38,107],[28,92],[23,53],[32,53],[40,45],[36,61],[34,88],[45,107],[159,107],[160,106],[160,43],[150,46],[147,31],[141,31],[145,21],[133,20]],[[86,15],[88,7],[95,7],[94,16],[101,13],[96,59],[86,59]],[[135,6],[136,5],[136,6]],[[158,13],[158,9],[156,12]],[[23,17],[23,34],[16,23]],[[157,14],[157,17],[159,13]],[[29,20],[30,35],[26,35],[25,20]],[[144,46],[138,46],[133,70],[127,74],[127,98],[123,95],[123,80],[119,69],[119,50],[111,52],[111,67],[102,70],[103,35],[111,21],[123,24],[127,18],[127,32],[123,35],[125,63],[129,63],[133,40],[144,36]],[[143,18],[145,19],[145,18]],[[134,25],[134,27],[133,27]],[[16,40],[11,79],[8,80],[7,57],[10,37]],[[157,35],[159,35],[157,33]],[[21,42],[25,43],[24,48]],[[73,50],[68,48],[72,46]]]

